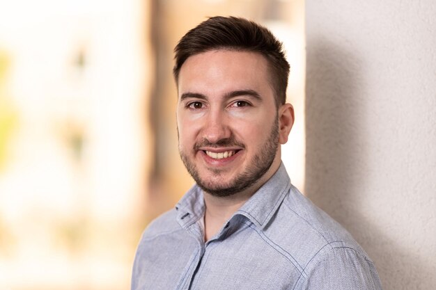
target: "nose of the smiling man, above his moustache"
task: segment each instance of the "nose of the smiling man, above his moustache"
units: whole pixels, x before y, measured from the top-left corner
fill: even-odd
[[[219,109],[209,111],[205,124],[203,124],[203,138],[209,143],[217,143],[219,140],[230,138],[229,121],[224,111]]]

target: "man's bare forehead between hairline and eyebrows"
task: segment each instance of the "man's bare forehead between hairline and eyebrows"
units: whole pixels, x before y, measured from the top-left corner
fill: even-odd
[[[212,50],[187,58],[178,80],[180,92],[204,90],[271,90],[268,63],[251,51]]]

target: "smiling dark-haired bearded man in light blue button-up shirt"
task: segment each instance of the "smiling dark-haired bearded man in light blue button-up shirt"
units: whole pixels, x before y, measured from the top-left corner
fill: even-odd
[[[179,150],[196,185],[143,233],[132,289],[382,289],[364,250],[281,163],[294,120],[281,43],[212,17],[175,51]]]

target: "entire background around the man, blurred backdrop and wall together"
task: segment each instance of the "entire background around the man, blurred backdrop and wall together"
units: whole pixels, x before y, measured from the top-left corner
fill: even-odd
[[[130,288],[150,220],[192,186],[173,47],[208,16],[284,43],[293,184],[384,290],[436,289],[433,0],[0,0],[0,290]]]

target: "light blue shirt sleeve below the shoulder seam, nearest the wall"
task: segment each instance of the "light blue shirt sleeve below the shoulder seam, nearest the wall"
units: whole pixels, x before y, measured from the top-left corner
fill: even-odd
[[[320,252],[310,264],[304,290],[382,290],[373,262],[352,248]]]

